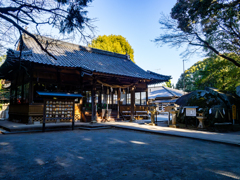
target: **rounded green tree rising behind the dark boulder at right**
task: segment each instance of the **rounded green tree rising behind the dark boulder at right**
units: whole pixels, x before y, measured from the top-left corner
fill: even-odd
[[[235,54],[228,54],[236,58]],[[186,91],[203,90],[205,87],[215,87],[221,91],[235,92],[240,85],[240,69],[228,60],[213,56],[199,61],[191,66],[179,78],[176,87]]]

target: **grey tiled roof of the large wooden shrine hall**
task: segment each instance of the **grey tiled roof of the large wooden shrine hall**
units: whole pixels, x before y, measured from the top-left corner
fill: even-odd
[[[44,47],[54,55],[56,60],[47,55],[33,38],[23,35],[23,60],[34,63],[61,66],[79,67],[92,72],[151,79],[158,82],[168,81],[171,77],[144,71],[133,63],[127,55],[112,53],[99,49],[83,47],[42,36],[36,36]],[[9,50],[8,56],[18,55],[18,51]]]

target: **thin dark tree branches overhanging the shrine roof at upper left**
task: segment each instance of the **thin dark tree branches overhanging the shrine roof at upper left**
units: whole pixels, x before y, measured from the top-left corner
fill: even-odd
[[[93,31],[87,11],[84,10],[92,0],[8,0],[0,1],[0,48],[26,33],[31,36],[43,51],[51,55],[46,47],[24,26],[35,29],[55,27],[60,34],[78,34],[82,40],[91,38],[86,28]],[[51,55],[52,56],[52,55]]]

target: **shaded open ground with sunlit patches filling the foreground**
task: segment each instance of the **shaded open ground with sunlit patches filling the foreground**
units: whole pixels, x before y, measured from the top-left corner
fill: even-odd
[[[0,179],[240,179],[240,147],[122,129],[0,135]]]

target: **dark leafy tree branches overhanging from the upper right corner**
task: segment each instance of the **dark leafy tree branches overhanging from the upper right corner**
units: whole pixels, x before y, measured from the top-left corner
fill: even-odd
[[[240,67],[239,12],[239,0],[178,0],[171,18],[162,15],[159,22],[164,33],[155,42],[173,47],[187,44],[183,55],[202,49]]]

